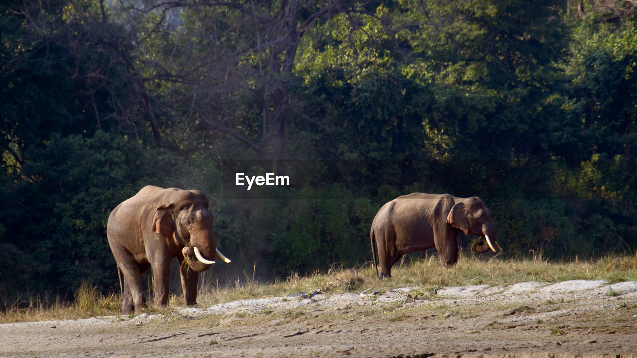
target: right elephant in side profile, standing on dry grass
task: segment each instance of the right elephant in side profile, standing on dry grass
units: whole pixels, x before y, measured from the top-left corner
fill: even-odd
[[[417,192],[389,201],[378,210],[369,231],[376,276],[381,281],[390,278],[392,266],[404,254],[433,247],[440,254],[441,266],[455,264],[460,231],[484,236],[485,240],[481,238],[473,245],[476,252],[502,250],[496,242],[491,214],[478,197]]]

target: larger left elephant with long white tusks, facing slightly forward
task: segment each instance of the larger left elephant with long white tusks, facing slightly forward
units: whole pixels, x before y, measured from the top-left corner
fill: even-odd
[[[199,190],[147,186],[119,204],[108,217],[106,234],[117,261],[122,314],[147,308],[141,276],[152,268],[155,306],[168,304],[170,263],[181,262],[182,292],[187,306],[197,304],[199,272],[210,268],[218,248],[208,198]]]

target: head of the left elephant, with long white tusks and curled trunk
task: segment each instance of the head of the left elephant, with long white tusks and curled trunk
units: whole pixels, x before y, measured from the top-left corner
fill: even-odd
[[[196,272],[210,268],[215,263],[215,254],[230,262],[217,248],[214,217],[208,211],[206,196],[198,190],[183,190],[179,194],[172,203],[157,206],[152,230],[172,236],[182,247],[187,264]]]

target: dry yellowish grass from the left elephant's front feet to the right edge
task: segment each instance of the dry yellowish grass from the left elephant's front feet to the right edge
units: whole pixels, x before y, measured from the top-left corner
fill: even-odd
[[[402,262],[392,268],[392,278],[379,282],[371,263],[359,268],[331,268],[327,273],[299,276],[291,273],[286,280],[259,283],[246,275],[233,285],[213,285],[199,292],[202,306],[284,296],[297,292],[322,290],[329,293],[389,290],[419,286],[424,290],[455,285],[505,285],[527,281],[562,282],[568,280],[606,280],[609,283],[637,281],[637,254],[605,256],[588,261],[550,262],[539,257],[530,259],[483,259],[465,255],[457,264],[441,268],[435,256]]]

